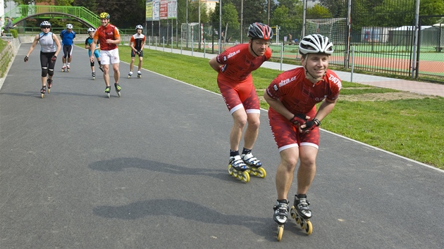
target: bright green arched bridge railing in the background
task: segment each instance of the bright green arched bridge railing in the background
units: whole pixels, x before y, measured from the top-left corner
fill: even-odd
[[[81,6],[49,6],[49,5],[24,5],[20,4],[13,10],[5,13],[4,16],[14,18],[13,24],[19,22],[23,18],[27,18],[30,15],[39,15],[41,17],[54,18],[54,14],[63,13],[66,15],[73,15],[75,18],[79,18],[92,27],[99,27],[100,18],[98,15],[92,13],[89,9]],[[52,13],[52,15],[51,15]]]

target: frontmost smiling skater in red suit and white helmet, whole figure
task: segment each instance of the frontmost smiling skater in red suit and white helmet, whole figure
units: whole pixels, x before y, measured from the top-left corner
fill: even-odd
[[[302,228],[311,234],[312,224],[308,219],[312,217],[312,211],[307,192],[316,173],[319,125],[335,107],[342,85],[338,75],[328,69],[328,60],[333,53],[333,44],[328,37],[307,35],[300,41],[299,52],[302,67],[283,72],[273,79],[264,98],[270,106],[271,132],[281,158],[276,171],[278,200],[273,218],[283,231],[288,217],[288,192],[299,159],[297,194],[291,210],[297,222],[299,219]],[[319,102],[322,103],[316,111]]]

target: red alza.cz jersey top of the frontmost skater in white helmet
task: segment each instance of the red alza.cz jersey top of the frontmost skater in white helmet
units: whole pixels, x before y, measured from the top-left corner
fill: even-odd
[[[279,99],[291,113],[307,114],[316,110],[316,103],[335,100],[342,83],[332,70],[327,70],[323,79],[313,84],[305,78],[305,69],[295,68],[278,75],[266,89],[271,98]]]

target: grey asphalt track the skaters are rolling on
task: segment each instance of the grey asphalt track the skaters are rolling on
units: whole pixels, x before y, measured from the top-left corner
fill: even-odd
[[[243,184],[227,172],[218,94],[147,70],[127,79],[121,63],[122,96],[106,98],[75,47],[42,99],[29,47],[0,90],[0,248],[443,248],[441,170],[323,131],[313,234],[290,220],[277,242],[266,111],[254,154],[267,176]]]

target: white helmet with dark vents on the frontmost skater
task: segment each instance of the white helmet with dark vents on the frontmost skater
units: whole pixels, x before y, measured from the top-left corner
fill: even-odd
[[[328,37],[322,34],[309,34],[302,38],[299,43],[299,53],[305,55],[307,53],[333,53],[333,44],[328,41]]]

